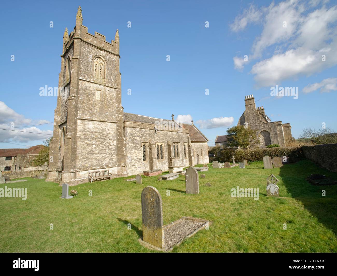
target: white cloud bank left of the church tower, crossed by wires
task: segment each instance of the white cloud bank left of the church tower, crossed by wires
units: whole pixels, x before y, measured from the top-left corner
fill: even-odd
[[[0,129],[0,137],[2,141],[6,142],[30,142],[30,141],[42,141],[50,135],[45,135],[42,133],[53,134],[52,130],[41,130],[35,126],[28,128],[13,128],[11,126],[14,123],[14,127],[31,125],[31,124],[42,124],[46,123],[46,120],[32,121],[31,119],[25,118],[24,115],[21,115],[9,108],[3,101],[0,101],[0,128],[7,128],[10,130]],[[16,131],[14,131],[16,130]],[[24,131],[24,132],[22,132]],[[36,133],[28,133],[36,132]]]

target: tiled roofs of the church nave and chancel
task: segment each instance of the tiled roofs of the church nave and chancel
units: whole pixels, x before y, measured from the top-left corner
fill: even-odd
[[[138,114],[132,114],[132,113],[126,113],[124,112],[124,121],[127,122],[137,122],[137,123],[147,123],[147,124],[153,124],[155,125],[158,120],[163,120],[163,121],[171,121],[172,120],[165,120],[165,119],[160,119],[160,118],[153,118],[153,117],[148,117],[148,116],[143,116],[143,115],[138,115]],[[175,124],[177,124],[175,122]],[[189,136],[191,138],[191,142],[208,142],[208,139],[206,136],[199,130],[197,129],[194,125],[189,125],[189,124],[182,124],[181,125],[183,128],[188,129]],[[179,126],[177,125],[177,129]]]

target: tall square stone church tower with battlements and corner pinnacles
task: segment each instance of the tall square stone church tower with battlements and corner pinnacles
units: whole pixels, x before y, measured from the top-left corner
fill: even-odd
[[[47,181],[87,179],[88,171],[108,170],[123,175],[125,141],[119,72],[119,34],[111,43],[105,36],[88,33],[82,25],[63,36],[59,89],[50,144]]]

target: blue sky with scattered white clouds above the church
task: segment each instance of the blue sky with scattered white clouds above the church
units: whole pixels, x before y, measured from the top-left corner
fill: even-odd
[[[253,94],[256,106],[272,121],[290,123],[296,138],[323,122],[337,131],[337,3],[319,0],[4,2],[0,128],[53,122],[56,97],[40,97],[39,88],[58,86],[64,29],[75,26],[79,5],[89,33],[111,41],[119,29],[125,112],[193,118],[212,145],[237,124],[244,97]],[[298,87],[298,99],[272,97],[276,85]],[[52,133],[53,124],[15,130]],[[44,137],[0,130],[0,141],[19,144],[0,148]]]

